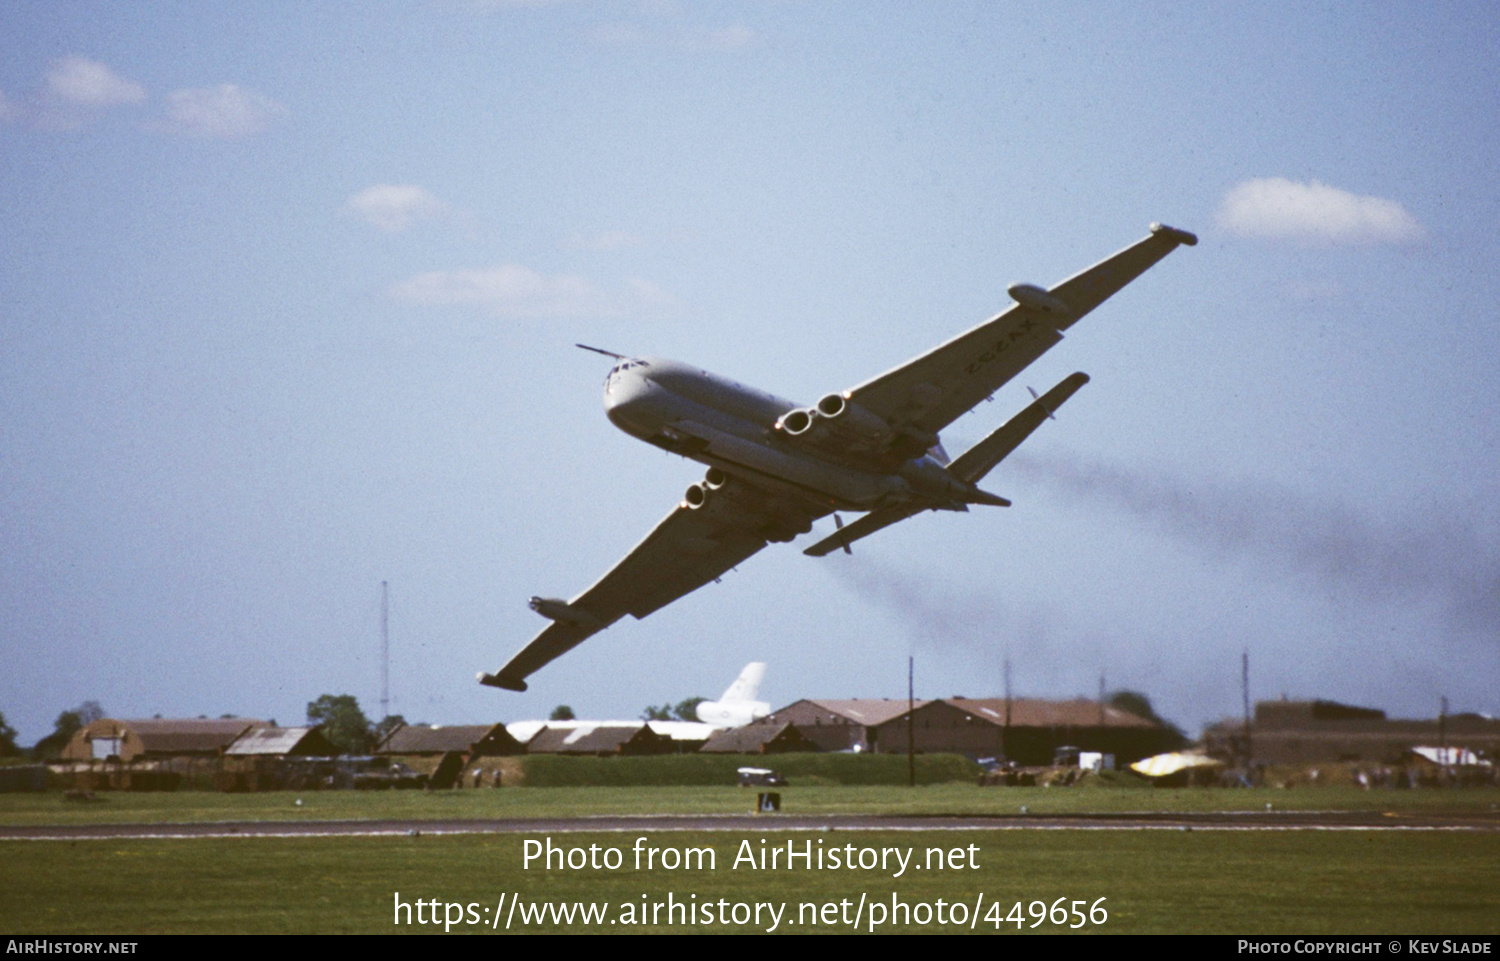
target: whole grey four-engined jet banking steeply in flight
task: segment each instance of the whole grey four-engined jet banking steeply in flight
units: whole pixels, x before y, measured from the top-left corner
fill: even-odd
[[[1198,240],[1152,223],[1150,234],[1050,289],[1012,283],[1014,303],[988,321],[864,384],[812,406],[692,364],[616,360],[604,411],[626,433],[708,466],[704,480],[634,550],[572,600],[532,597],[552,621],[480,684],[525,691],[526,678],[620,618],[645,618],[717,580],[771,541],[790,541],[834,511],[866,511],[802,553],[820,558],[928,510],[1008,507],[978,487],[990,469],[1088,384],[1066,376],[956,459],[938,432],[990,397],[1110,295]],[[1034,391],[1035,393],[1035,391]]]

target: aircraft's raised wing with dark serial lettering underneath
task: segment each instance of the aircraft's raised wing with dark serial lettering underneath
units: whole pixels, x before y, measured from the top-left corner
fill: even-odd
[[[1178,244],[1196,244],[1186,231],[1154,223],[1150,235],[1048,291],[1017,283],[1016,304],[894,370],[866,381],[846,397],[926,448],[951,424],[1062,340],[1062,331],[1143,274]]]

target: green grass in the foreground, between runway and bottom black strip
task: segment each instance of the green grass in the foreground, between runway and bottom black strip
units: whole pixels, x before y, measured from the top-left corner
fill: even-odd
[[[782,933],[852,933],[861,895],[909,909],[927,904],[928,924],[878,931],[964,931],[938,924],[936,903],[966,913],[982,897],[976,931],[1016,933],[996,921],[1022,903],[1098,898],[1108,919],[1083,931],[1250,934],[1494,934],[1500,931],[1500,837],[1438,832],[808,832],[770,835],[768,843],[824,849],[976,847],[978,870],[734,868],[741,844],[759,849],[753,832],[660,834],[658,847],[711,847],[716,870],[634,870],[634,834],[558,835],[556,844],[618,847],[620,870],[522,868],[522,837],[240,838],[192,841],[0,843],[0,930],[15,934],[147,933],[441,933],[442,925],[396,925],[394,898],[472,904],[482,924],[454,933],[492,933],[494,906],[519,895],[524,904],[606,904],[604,922],[585,927],[546,921],[512,931],[724,933],[760,924],[664,924],[651,904],[670,892],[688,904],[718,901],[784,904]],[[968,852],[966,852],[968,853]],[[894,868],[892,868],[894,870]],[[694,897],[696,895],[696,897]],[[645,897],[642,900],[642,897]],[[843,907],[843,904],[848,907]],[[648,924],[618,924],[645,904]],[[812,913],[832,904],[830,915]],[[990,915],[988,906],[999,904]],[[1065,909],[1068,904],[1065,903]],[[489,912],[486,913],[486,909]],[[430,913],[430,909],[428,910]],[[440,916],[446,910],[440,912]],[[412,912],[412,921],[416,921]],[[465,912],[460,909],[462,919]],[[868,927],[864,913],[861,931]],[[615,921],[616,924],[609,924]],[[1023,931],[1032,931],[1032,918]],[[1076,921],[1074,919],[1070,919]],[[504,921],[501,921],[501,928]],[[1066,933],[1050,921],[1040,933]]]

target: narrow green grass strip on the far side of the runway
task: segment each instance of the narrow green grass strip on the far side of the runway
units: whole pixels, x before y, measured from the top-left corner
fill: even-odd
[[[1492,811],[1500,789],[1358,790],[1041,789],[933,784],[782,789],[788,814],[1088,814],[1124,811]],[[222,820],[368,820],[586,817],[591,814],[746,814],[754,792],[738,787],[528,787],[444,792],[0,795],[0,825],[171,823]],[[302,801],[298,805],[297,801]]]

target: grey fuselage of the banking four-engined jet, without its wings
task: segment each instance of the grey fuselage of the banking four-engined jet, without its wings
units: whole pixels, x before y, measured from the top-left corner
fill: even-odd
[[[836,403],[838,397],[830,394],[819,403]],[[813,429],[792,435],[786,429],[789,417],[814,408],[675,360],[621,360],[604,379],[604,409],[616,427],[634,438],[756,487],[814,501],[824,510],[868,511],[914,501],[968,510],[966,502],[975,502],[978,493],[948,474],[932,453],[894,463],[860,457],[858,442],[850,447],[820,438],[816,415],[810,418]],[[702,493],[694,484],[687,501]]]

